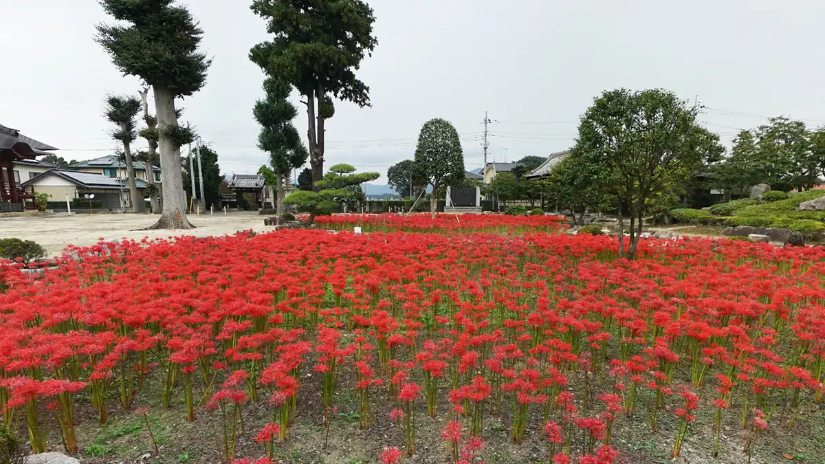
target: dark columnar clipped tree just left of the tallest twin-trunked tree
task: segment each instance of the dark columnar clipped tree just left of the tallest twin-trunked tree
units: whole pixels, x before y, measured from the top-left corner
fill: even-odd
[[[275,78],[266,78],[263,83],[266,97],[255,103],[252,111],[255,121],[261,125],[258,135],[258,148],[269,153],[271,177],[270,185],[276,187],[276,214],[284,212],[284,177],[290,171],[306,163],[307,149],[301,143],[301,137],[292,120],[298,115],[298,109],[288,100],[292,90],[290,84]],[[266,169],[258,173],[268,177]]]

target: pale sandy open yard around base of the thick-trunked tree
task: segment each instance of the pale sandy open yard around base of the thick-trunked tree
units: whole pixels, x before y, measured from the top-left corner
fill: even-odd
[[[139,230],[153,225],[159,215],[149,214],[78,214],[78,215],[0,215],[0,239],[16,237],[33,240],[43,246],[50,256],[57,255],[67,245],[88,246],[120,239],[168,239],[181,235],[205,237],[234,234],[238,230],[271,230],[263,225],[266,216],[257,211],[230,211],[224,215],[187,215],[197,226],[191,230]]]

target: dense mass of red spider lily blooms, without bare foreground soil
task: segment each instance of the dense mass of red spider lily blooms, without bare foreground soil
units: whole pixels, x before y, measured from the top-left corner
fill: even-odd
[[[590,462],[622,412],[656,433],[658,414],[676,413],[680,425],[661,433],[681,447],[698,408],[714,408],[714,439],[741,410],[756,441],[769,421],[754,406],[782,411],[768,414],[771,427],[782,420],[773,417],[789,417],[782,425],[791,427],[822,400],[825,250],[651,239],[626,262],[615,260],[607,237],[547,234],[559,221],[545,217],[342,215],[324,221],[375,233],[126,240],[68,249],[58,268],[35,277],[0,265],[8,286],[0,379],[82,381],[103,422],[107,401],[119,396],[130,407],[157,372],[162,405],[181,396],[191,420],[210,402],[225,405],[227,424],[237,406],[240,422],[265,389],[256,407],[271,411],[281,440],[299,397],[320,394],[301,408],[326,416],[339,389],[359,395],[361,427],[374,417],[403,420],[408,436],[421,393],[431,415],[449,400],[446,420],[462,414],[470,436],[482,429],[483,408],[509,417],[503,397],[515,441],[533,439],[527,424],[558,424],[541,435],[563,438],[551,442],[554,451],[566,447],[559,460]],[[156,358],[157,372],[149,362]],[[337,385],[339,376],[355,381]],[[705,388],[708,379],[715,390]],[[32,397],[20,403],[10,384],[0,385],[2,417],[12,422]],[[408,395],[407,385],[423,391]],[[64,414],[60,396],[40,414]],[[384,404],[404,412],[371,414]],[[636,414],[639,405],[647,417]],[[203,414],[204,427],[214,415]],[[579,428],[583,443],[570,440]],[[460,449],[451,459],[462,459]]]

